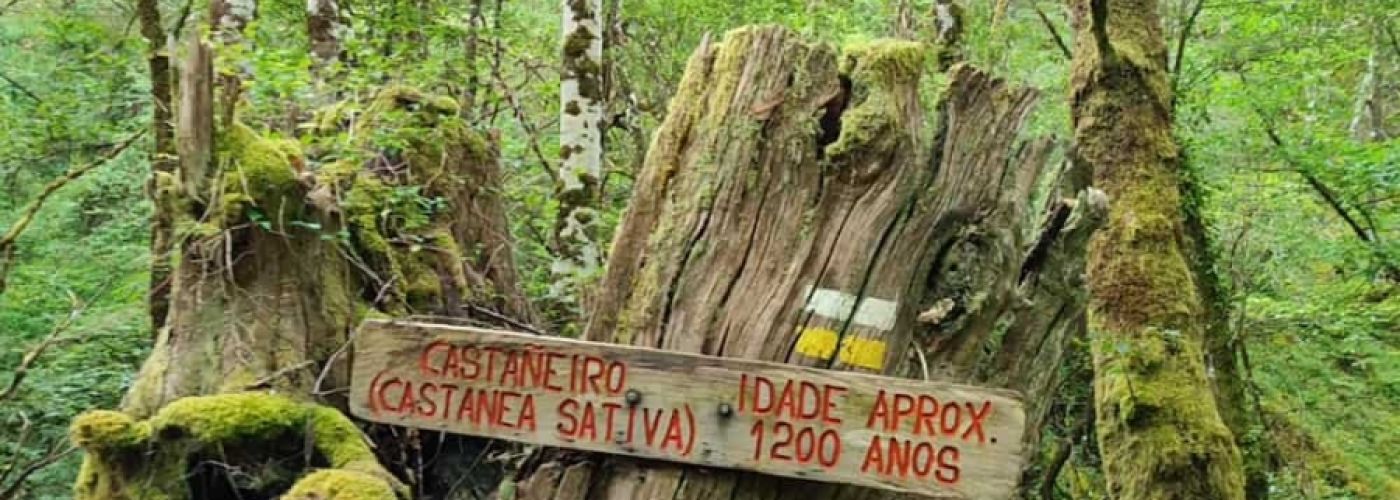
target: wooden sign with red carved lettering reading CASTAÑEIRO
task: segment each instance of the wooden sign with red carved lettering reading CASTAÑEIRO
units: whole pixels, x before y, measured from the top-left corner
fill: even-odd
[[[1012,391],[466,326],[367,321],[351,391],[381,423],[932,497],[1022,465]]]

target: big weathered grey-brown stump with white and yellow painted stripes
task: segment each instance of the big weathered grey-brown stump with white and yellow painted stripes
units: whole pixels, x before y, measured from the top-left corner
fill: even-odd
[[[699,48],[585,336],[1037,391],[1033,447],[1082,310],[1082,294],[1058,291],[1078,284],[1103,199],[1056,197],[1032,230],[1028,197],[1050,150],[1018,140],[1033,92],[955,66],[925,118],[927,52],[881,41],[839,56],[783,28]],[[888,496],[577,454],[542,454],[517,479],[522,499]]]

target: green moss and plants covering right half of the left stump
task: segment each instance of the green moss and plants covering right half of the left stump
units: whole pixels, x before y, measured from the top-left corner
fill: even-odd
[[[451,237],[451,203],[463,189],[463,172],[494,161],[486,139],[455,116],[456,102],[409,87],[389,87],[365,108],[347,158],[402,158],[395,175],[364,171],[364,160],[342,160],[316,172],[339,195],[354,249],[374,270],[388,300],[377,307],[402,314],[437,305],[440,276],[466,289],[461,248]],[[388,153],[386,153],[388,151]]]

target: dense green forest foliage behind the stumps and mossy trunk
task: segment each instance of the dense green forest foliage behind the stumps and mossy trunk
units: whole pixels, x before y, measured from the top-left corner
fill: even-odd
[[[115,408],[151,345],[154,146],[140,134],[151,126],[151,81],[137,4],[0,0],[0,228],[8,231],[0,232],[0,499],[70,494],[80,454],[64,436],[69,422]],[[934,1],[920,0],[605,4],[609,126],[592,202],[599,241],[609,239],[703,39],[767,22],[834,45],[934,29]],[[160,1],[165,35],[200,29],[192,13],[203,8]],[[498,140],[535,326],[577,333],[580,290],[598,270],[560,273],[553,239],[559,1],[340,8],[343,56],[314,73],[305,6],[259,3],[252,49],[220,53],[220,64],[245,74],[239,119],[295,137],[328,95],[364,102],[385,85],[412,85],[456,97],[462,119]],[[1065,6],[988,0],[965,1],[963,11],[963,56],[1044,94],[1028,132],[1072,136]],[[1397,497],[1400,1],[1165,0],[1162,20],[1187,157],[1183,210],[1212,237],[1226,352],[1247,385],[1242,441],[1256,444],[1274,497]],[[928,94],[942,84],[924,83]],[[434,203],[412,189],[398,195]],[[1068,405],[1088,403],[1086,382],[1068,391]],[[1071,408],[1047,430],[1074,444],[1061,447],[1068,465],[1046,489],[1056,496],[1102,494],[1082,417]]]

